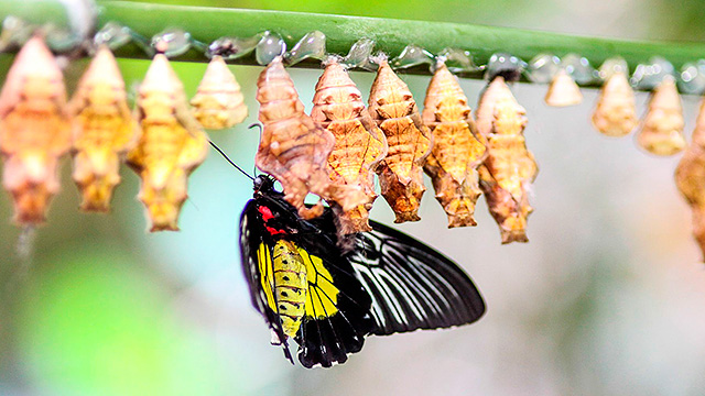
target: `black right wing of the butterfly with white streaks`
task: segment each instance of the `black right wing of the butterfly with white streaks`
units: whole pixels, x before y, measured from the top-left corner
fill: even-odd
[[[471,323],[485,312],[473,280],[452,260],[384,224],[356,237],[348,253],[372,298],[378,336]]]

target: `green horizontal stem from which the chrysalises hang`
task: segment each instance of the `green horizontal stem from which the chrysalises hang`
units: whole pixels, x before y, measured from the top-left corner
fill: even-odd
[[[510,53],[524,61],[540,53],[557,56],[576,53],[585,56],[594,66],[599,66],[609,57],[621,56],[632,70],[639,63],[649,62],[652,56],[662,56],[676,68],[684,63],[705,56],[705,44],[702,43],[639,42],[471,24],[285,11],[177,7],[128,1],[98,1],[98,4],[100,7],[99,28],[109,21],[115,21],[145,37],[151,37],[169,28],[181,28],[189,32],[195,40],[204,43],[210,43],[221,36],[249,37],[270,30],[280,33],[291,47],[304,34],[318,30],[326,34],[327,51],[330,53],[347,54],[357,40],[367,37],[377,42],[378,51],[392,57],[400,54],[408,44],[420,45],[434,54],[445,47],[456,47],[469,50],[475,62],[480,65],[486,64],[490,55],[496,52]],[[9,13],[12,7],[4,6],[4,9],[0,7],[0,15]],[[118,50],[117,55],[148,57],[135,45]],[[176,59],[207,61],[203,53],[196,51],[189,51]],[[254,64],[254,57],[248,56],[239,59],[238,63]],[[311,67],[313,64],[315,63],[308,62],[297,66]],[[430,73],[425,67],[411,72]]]

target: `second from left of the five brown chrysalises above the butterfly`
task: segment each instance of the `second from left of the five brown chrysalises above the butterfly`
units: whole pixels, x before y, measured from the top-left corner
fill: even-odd
[[[387,155],[387,140],[377,128],[361,100],[362,94],[345,68],[332,59],[316,84],[313,98],[313,121],[335,136],[328,156],[334,185],[359,186],[367,201],[352,210],[339,213],[341,234],[371,231],[368,211],[372,207],[377,164]]]

